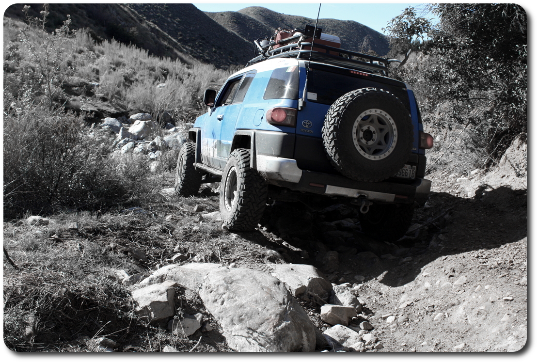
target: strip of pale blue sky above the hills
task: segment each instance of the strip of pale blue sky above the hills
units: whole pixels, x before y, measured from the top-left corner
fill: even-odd
[[[298,15],[307,18],[316,19],[320,3],[194,3],[196,8],[202,11],[220,12],[220,11],[238,11],[249,6],[262,6],[276,12],[287,15]],[[423,4],[412,3],[322,3],[320,19],[338,19],[354,20],[357,23],[364,24],[383,34],[381,28],[387,26],[390,20],[404,11],[405,8],[412,6],[415,9],[422,9]],[[426,16],[433,18],[433,15]],[[312,24],[314,25],[314,24]],[[335,34],[337,35],[337,34]]]

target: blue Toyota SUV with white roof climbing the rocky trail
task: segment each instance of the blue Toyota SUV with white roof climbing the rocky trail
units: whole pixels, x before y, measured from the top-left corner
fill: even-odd
[[[239,231],[277,200],[346,198],[360,206],[363,232],[402,237],[430,191],[424,150],[433,138],[413,91],[388,77],[397,60],[340,49],[312,26],[254,44],[259,55],[246,68],[206,90],[208,112],[182,146],[176,193],[221,181],[224,226]]]

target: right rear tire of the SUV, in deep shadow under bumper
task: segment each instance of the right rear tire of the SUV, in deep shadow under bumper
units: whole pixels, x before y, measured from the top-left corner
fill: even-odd
[[[371,237],[393,242],[404,237],[413,219],[413,204],[374,204],[360,215],[362,231]]]

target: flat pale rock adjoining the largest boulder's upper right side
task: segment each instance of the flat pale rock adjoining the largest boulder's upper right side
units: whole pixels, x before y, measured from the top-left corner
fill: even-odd
[[[295,297],[312,293],[326,300],[332,292],[331,283],[314,266],[267,264],[267,267],[273,276],[286,284]]]

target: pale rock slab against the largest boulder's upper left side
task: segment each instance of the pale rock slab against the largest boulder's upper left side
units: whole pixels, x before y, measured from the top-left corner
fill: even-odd
[[[224,268],[218,264],[188,264],[188,265],[168,265],[159,268],[149,277],[140,282],[141,285],[147,286],[165,281],[175,281],[181,286],[191,290],[198,290],[206,275],[216,268]]]

